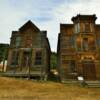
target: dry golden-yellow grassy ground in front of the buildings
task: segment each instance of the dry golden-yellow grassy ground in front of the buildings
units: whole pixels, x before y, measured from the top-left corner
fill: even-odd
[[[0,100],[100,100],[100,88],[0,77]]]

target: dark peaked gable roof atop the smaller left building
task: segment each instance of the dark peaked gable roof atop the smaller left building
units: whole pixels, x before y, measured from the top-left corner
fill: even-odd
[[[30,21],[30,20],[27,21],[22,27],[20,27],[19,31],[24,31],[24,30],[26,30],[28,28],[32,28],[35,31],[40,31],[39,28],[35,24],[33,24],[32,21]]]

